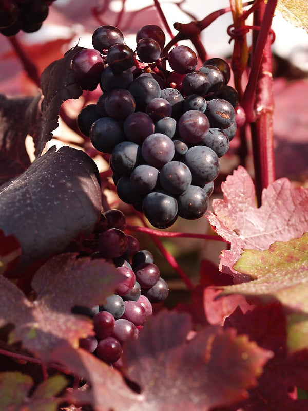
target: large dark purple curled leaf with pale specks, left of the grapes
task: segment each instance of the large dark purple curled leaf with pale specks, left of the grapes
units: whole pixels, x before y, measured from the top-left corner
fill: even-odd
[[[61,252],[101,213],[97,166],[83,151],[51,148],[0,188],[0,228],[20,242],[20,266]]]

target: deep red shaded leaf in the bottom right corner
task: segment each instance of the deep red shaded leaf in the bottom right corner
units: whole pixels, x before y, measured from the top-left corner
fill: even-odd
[[[286,316],[280,303],[257,306],[245,314],[237,309],[226,319],[224,327],[248,335],[258,346],[274,352],[258,378],[258,386],[249,389],[249,397],[235,409],[302,410],[307,401],[292,400],[290,388],[308,388],[308,350],[290,354],[286,346]]]

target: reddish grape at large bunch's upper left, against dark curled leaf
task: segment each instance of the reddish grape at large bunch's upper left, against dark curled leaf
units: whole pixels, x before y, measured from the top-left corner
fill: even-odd
[[[98,84],[105,65],[98,50],[85,48],[73,56],[70,67],[78,80],[86,84]]]

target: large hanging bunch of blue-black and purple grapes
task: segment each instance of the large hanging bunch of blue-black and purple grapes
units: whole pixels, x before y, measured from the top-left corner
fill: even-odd
[[[71,69],[84,87],[102,89],[77,121],[93,146],[110,154],[119,198],[164,229],[179,216],[205,214],[219,159],[237,130],[238,95],[224,60],[197,70],[196,53],[184,45],[164,56],[156,25],[143,26],[136,41],[133,51],[117,27],[105,25],[94,31],[93,49],[74,55]]]

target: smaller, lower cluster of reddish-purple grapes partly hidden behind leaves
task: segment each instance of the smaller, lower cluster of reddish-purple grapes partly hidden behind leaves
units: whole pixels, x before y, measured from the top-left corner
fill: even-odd
[[[92,239],[92,258],[105,258],[123,274],[123,281],[106,303],[88,309],[80,305],[72,312],[93,319],[95,336],[80,340],[80,346],[108,364],[122,355],[123,344],[137,338],[138,329],[152,314],[152,303],[166,299],[169,289],[153,262],[153,255],[140,250],[139,242],[124,233],[126,221],[120,210],[101,215]]]

